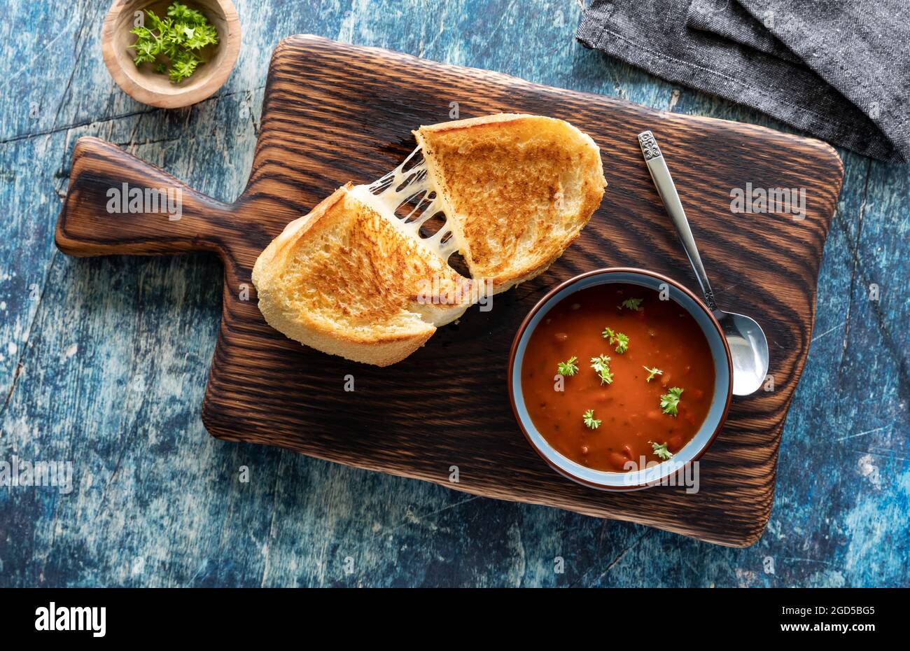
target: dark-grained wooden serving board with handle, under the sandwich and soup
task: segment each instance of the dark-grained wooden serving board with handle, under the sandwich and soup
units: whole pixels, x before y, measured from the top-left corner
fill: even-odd
[[[410,129],[449,119],[451,102],[460,117],[561,117],[594,138],[609,187],[581,238],[546,273],[497,295],[492,310],[472,308],[389,368],[325,355],[269,328],[250,282],[259,252],[341,184],[379,178],[398,165],[414,147]],[[695,494],[668,487],[605,493],[564,479],[525,441],[506,388],[515,331],[556,283],[626,266],[697,290],[642,160],[636,134],[644,129],[661,143],[719,304],[753,315],[771,346],[773,391],[733,400],[723,432],[702,458]],[[207,198],[113,145],[82,138],[56,243],[76,256],[217,252],[225,266],[224,312],[202,420],[218,438],[748,545],[771,509],[778,444],[809,349],[819,260],[842,176],[834,149],[817,140],[293,36],[272,57],[253,168],[235,203]],[[108,213],[107,190],[125,182],[183,188],[182,219]],[[806,188],[806,218],[732,214],[731,189],[747,183]],[[345,391],[348,375],[353,392]],[[450,481],[452,466],[459,483]]]

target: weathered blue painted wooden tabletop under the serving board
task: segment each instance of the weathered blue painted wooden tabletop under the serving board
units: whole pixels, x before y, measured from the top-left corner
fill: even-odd
[[[72,462],[73,475],[69,492],[0,486],[0,585],[908,584],[910,168],[840,152],[844,190],[771,521],[758,544],[727,549],[218,442],[199,421],[217,260],[71,259],[53,231],[85,135],[237,197],[268,57],[296,33],[786,127],[585,50],[572,0],[239,0],[243,46],[227,85],[172,111],[137,104],[108,76],[106,3],[6,5],[0,463]]]

